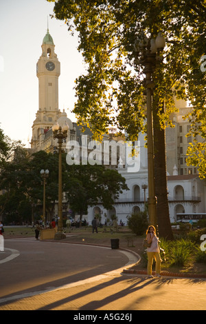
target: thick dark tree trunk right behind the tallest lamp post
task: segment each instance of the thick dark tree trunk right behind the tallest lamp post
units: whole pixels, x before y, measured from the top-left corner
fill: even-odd
[[[165,156],[165,130],[161,129],[159,117],[153,110],[154,154],[155,154],[155,194],[157,196],[157,225],[159,237],[173,240],[168,205],[168,185]]]

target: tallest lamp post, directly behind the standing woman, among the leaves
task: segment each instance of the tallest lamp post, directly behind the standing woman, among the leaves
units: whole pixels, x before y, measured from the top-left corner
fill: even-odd
[[[146,105],[147,105],[147,136],[148,136],[148,213],[150,225],[156,225],[156,196],[154,175],[154,148],[153,148],[153,122],[152,122],[152,72],[156,64],[162,61],[160,55],[165,46],[165,39],[159,32],[157,39],[148,39],[142,33],[141,39],[135,43],[135,63],[144,67],[146,75]],[[139,57],[140,54],[140,57]]]

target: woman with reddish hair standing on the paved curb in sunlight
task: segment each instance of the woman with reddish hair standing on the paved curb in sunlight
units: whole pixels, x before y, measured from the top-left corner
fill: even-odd
[[[161,259],[160,259],[160,254],[159,254],[159,252],[160,252],[159,245],[158,245],[159,239],[156,236],[155,227],[150,225],[148,227],[146,234],[147,234],[148,243],[151,243],[150,247],[148,247],[148,275],[149,275],[149,278],[153,278],[152,263],[153,263],[154,258],[156,261],[156,266],[155,266],[156,276],[161,277],[161,275],[160,275]]]

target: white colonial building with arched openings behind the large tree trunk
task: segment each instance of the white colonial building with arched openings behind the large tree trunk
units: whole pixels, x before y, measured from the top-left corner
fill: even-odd
[[[147,150],[144,148],[144,135],[140,139],[140,168],[138,172],[130,172],[130,166],[118,168],[118,171],[126,179],[129,190],[119,195],[115,201],[113,210],[104,210],[102,205],[89,208],[88,221],[92,221],[95,214],[102,215],[102,223],[115,214],[118,221],[126,223],[126,216],[144,210],[144,202],[148,197],[148,168]],[[168,174],[168,202],[170,221],[176,221],[177,213],[204,213],[205,205],[205,181],[199,179],[198,174],[178,175],[174,165],[172,175]]]

